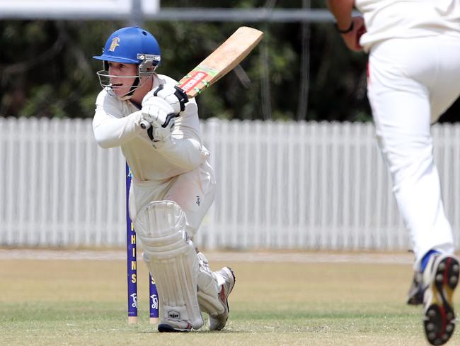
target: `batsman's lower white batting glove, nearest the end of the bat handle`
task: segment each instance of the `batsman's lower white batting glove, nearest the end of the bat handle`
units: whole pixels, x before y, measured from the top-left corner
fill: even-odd
[[[178,112],[167,101],[158,96],[144,97],[142,101],[142,118],[140,125],[147,130],[149,138],[154,142],[165,141],[171,137],[174,118]]]

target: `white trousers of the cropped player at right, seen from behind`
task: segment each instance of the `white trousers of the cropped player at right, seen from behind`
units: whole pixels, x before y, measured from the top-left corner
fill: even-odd
[[[386,40],[372,47],[368,68],[376,136],[418,270],[430,249],[454,252],[430,125],[460,94],[460,40],[446,35]]]

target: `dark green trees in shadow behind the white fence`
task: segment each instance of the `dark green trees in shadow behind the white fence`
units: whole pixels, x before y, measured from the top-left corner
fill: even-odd
[[[270,3],[275,1],[222,0],[219,7],[253,8]],[[275,5],[300,8],[303,1],[284,3],[287,1]],[[195,4],[191,0],[161,1],[162,8]],[[311,5],[323,6],[323,1],[311,1]],[[200,7],[213,6],[215,1],[200,1]],[[110,33],[126,25],[1,21],[0,115],[91,118],[100,91],[96,71],[101,69],[100,61],[92,56],[100,54]],[[144,27],[161,46],[157,71],[180,79],[243,25],[263,30],[265,37],[241,67],[198,96],[202,118],[371,119],[367,55],[348,51],[331,23],[147,21]],[[444,119],[456,121],[458,108],[455,104]]]

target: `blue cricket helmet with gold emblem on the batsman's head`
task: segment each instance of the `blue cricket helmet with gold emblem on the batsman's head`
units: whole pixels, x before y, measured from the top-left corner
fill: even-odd
[[[142,28],[128,26],[116,30],[105,43],[102,55],[94,59],[126,64],[146,63],[157,67],[161,62],[160,46],[154,35]]]

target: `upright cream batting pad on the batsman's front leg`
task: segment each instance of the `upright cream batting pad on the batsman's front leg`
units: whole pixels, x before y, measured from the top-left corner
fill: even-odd
[[[185,320],[192,328],[201,328],[204,321],[197,301],[198,259],[178,203],[148,203],[137,213],[134,229],[159,291],[162,323]]]

